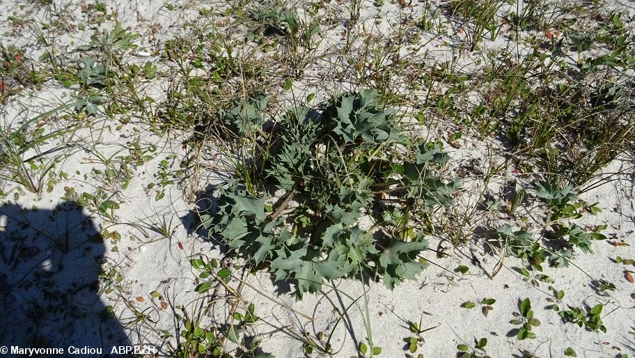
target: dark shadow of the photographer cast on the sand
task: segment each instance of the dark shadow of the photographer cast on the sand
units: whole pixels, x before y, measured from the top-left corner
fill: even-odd
[[[68,356],[115,357],[113,346],[130,345],[100,300],[103,241],[75,202],[54,210],[0,206],[1,346],[64,349],[40,357],[89,346],[102,353]]]

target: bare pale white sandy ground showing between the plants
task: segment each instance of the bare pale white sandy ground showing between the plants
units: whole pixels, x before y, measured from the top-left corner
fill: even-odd
[[[57,1],[54,3],[58,7],[64,5]],[[181,10],[177,12],[178,16],[165,10],[166,3],[155,1],[107,3],[109,8],[116,9],[118,20],[124,26],[132,26],[134,31],[141,33],[141,47],[135,54],[136,59],[142,62],[146,59],[156,59],[156,56],[152,55],[152,48],[181,31],[180,26],[187,19],[196,17],[197,12],[194,9],[200,8],[201,4],[178,3],[175,5],[181,6]],[[191,10],[184,10],[190,9],[189,6]],[[388,8],[386,16],[399,16],[398,6],[388,6]],[[47,10],[39,9],[38,5],[31,2],[15,3],[5,0],[0,1],[0,9],[2,14],[0,15],[0,33],[3,33],[1,38],[3,44],[13,43],[26,46],[34,44],[35,40],[29,35],[29,31],[15,32],[15,26],[12,25],[9,17],[16,13],[26,18],[37,19],[45,17]],[[71,3],[68,12],[75,15],[75,22],[81,23],[82,15],[77,5]],[[370,17],[372,14],[367,15]],[[152,24],[161,24],[161,26],[153,31]],[[379,28],[376,31],[382,31],[382,29]],[[67,45],[73,42],[73,46],[77,46],[86,42],[91,33],[92,30],[86,28],[84,31],[65,33],[55,41]],[[336,43],[337,39],[331,38],[331,41]],[[439,49],[439,51],[442,50]],[[33,45],[33,53],[29,56],[37,58],[41,53],[42,46]],[[70,56],[77,56],[77,54],[70,54]],[[322,69],[317,72],[326,71]],[[168,76],[149,81],[146,84],[148,93],[152,93],[155,100],[160,100],[165,95],[168,81]],[[52,82],[45,82],[40,89],[26,89],[23,91],[24,94],[11,100],[10,104],[1,111],[3,123],[5,125],[19,123],[24,118],[31,118],[33,114],[41,113],[46,107],[54,107],[55,103],[64,98],[64,93],[71,95],[74,91],[73,88],[59,88]],[[324,84],[324,88],[318,89],[328,91],[329,86],[331,85]],[[301,84],[295,84],[294,91],[296,90],[305,96],[308,93],[301,88]],[[324,93],[327,92],[322,92],[319,96],[326,97]],[[56,124],[51,125],[54,127]],[[92,221],[93,231],[97,228],[99,228],[97,231],[101,231],[102,228],[111,226],[111,231],[116,230],[121,236],[119,240],[104,239],[101,247],[105,257],[102,270],[109,271],[104,267],[112,267],[116,270],[116,274],[123,278],[119,283],[120,289],[105,292],[103,290],[105,281],[97,277],[97,271],[95,271],[95,277],[91,279],[91,281],[99,281],[102,285],[100,290],[96,291],[96,297],[100,302],[97,308],[104,309],[105,306],[112,306],[118,323],[109,322],[110,327],[104,325],[106,328],[102,330],[88,332],[94,337],[88,341],[88,344],[93,347],[99,345],[107,347],[120,342],[125,343],[127,340],[128,343],[125,344],[155,345],[160,349],[161,355],[165,355],[170,349],[165,342],[169,341],[174,345],[175,337],[179,336],[182,329],[182,322],[175,319],[175,314],[182,314],[183,311],[194,314],[201,307],[206,306],[205,299],[194,291],[198,283],[198,272],[191,267],[189,260],[201,255],[210,258],[221,256],[219,248],[207,240],[201,231],[196,230],[198,221],[193,212],[196,205],[187,196],[187,193],[197,192],[208,185],[221,182],[220,176],[211,175],[198,182],[197,187],[188,187],[192,185],[190,182],[168,186],[165,196],[159,200],[155,200],[155,191],[147,189],[148,182],[156,180],[162,160],[175,155],[178,161],[185,155],[180,145],[182,137],[178,134],[158,137],[143,125],[129,123],[118,127],[116,121],[109,120],[104,120],[91,128],[78,130],[65,140],[69,143],[80,143],[84,148],[78,146],[77,149],[65,153],[63,160],[56,166],[56,170],[68,173],[68,178],[57,182],[50,192],[45,192],[40,198],[24,193],[15,200],[14,194],[18,191],[8,192],[3,199],[3,208],[7,210],[6,205],[10,203],[18,205],[27,210],[19,215],[27,218],[33,217],[32,212],[29,211],[33,206],[36,206],[40,212],[54,214],[55,208],[64,201],[65,187],[74,187],[76,192],[81,193],[91,192],[95,187],[102,185],[92,170],[103,169],[103,165],[95,157],[95,152],[89,150],[96,149],[108,157],[119,153],[131,139],[137,139],[141,146],[153,145],[157,150],[147,153],[150,158],[134,168],[130,185],[125,188],[120,185],[109,187],[109,195],[116,195],[120,203],[120,209],[116,210],[116,218],[112,220],[115,225],[111,226],[113,223],[88,212],[86,208],[80,210],[82,213],[80,216],[83,215]],[[471,146],[473,143],[470,138],[461,139],[460,142],[463,145],[462,149],[450,151],[455,158],[453,160],[480,157],[478,150],[473,149],[478,149],[478,146]],[[451,149],[449,146],[448,148]],[[439,267],[432,265],[420,275],[417,281],[403,283],[393,291],[384,288],[382,283],[362,286],[358,281],[342,280],[335,282],[332,287],[324,286],[323,293],[307,295],[298,302],[290,295],[288,285],[274,285],[266,272],[246,274],[246,282],[249,284],[244,286],[242,295],[245,302],[256,304],[256,314],[260,316],[260,320],[252,327],[253,334],[262,341],[260,345],[262,351],[283,358],[304,357],[304,343],[290,332],[299,335],[302,335],[302,332],[308,332],[312,336],[318,335],[319,332],[331,332],[333,336],[331,344],[336,351],[334,357],[356,356],[359,343],[368,336],[363,321],[363,298],[357,300],[348,311],[346,309],[352,303],[351,297],[354,299],[361,297],[363,290],[366,289],[373,341],[375,345],[382,347],[381,357],[407,357],[409,354],[407,342],[411,336],[414,336],[409,326],[411,322],[419,322],[419,320],[422,322],[421,328],[428,330],[420,335],[421,341],[418,343],[415,357],[418,353],[423,353],[424,357],[454,357],[457,355],[457,345],[467,344],[473,348],[474,340],[479,338],[487,338],[485,352],[490,357],[563,357],[566,348],[573,348],[578,357],[616,357],[622,353],[635,355],[635,337],[629,333],[635,329],[635,284],[625,279],[625,270],[629,267],[615,263],[617,256],[635,258],[635,249],[633,246],[611,244],[620,240],[634,244],[635,209],[632,181],[624,169],[627,167],[628,160],[629,158],[625,158],[624,162],[616,161],[604,169],[606,173],[622,172],[612,177],[616,180],[607,180],[581,196],[581,199],[588,203],[597,201],[602,212],[597,217],[587,215],[580,219],[579,223],[593,226],[606,224],[605,235],[609,236],[609,240],[594,242],[594,254],[577,256],[577,260],[574,260],[575,266],[558,269],[545,267],[543,274],[551,277],[554,283],[531,284],[519,273],[519,267],[522,267],[521,261],[514,258],[505,258],[502,270],[496,274],[496,277],[491,277],[499,257],[492,254],[487,244],[483,244],[484,240],[471,240],[469,244],[461,247],[450,247],[447,242],[441,242],[441,245],[450,248],[448,251],[450,256],[434,258],[434,253],[430,252],[430,260]],[[175,169],[177,165],[173,164],[172,168]],[[536,213],[535,208],[532,212]],[[3,214],[6,212],[0,212],[0,217],[3,218],[0,222],[9,232],[11,228],[15,228],[16,222]],[[538,215],[540,215],[539,212]],[[46,221],[43,219],[46,216],[40,219]],[[169,238],[164,238],[163,235],[147,228],[148,224],[159,221],[172,223]],[[135,223],[146,228],[139,230],[134,226],[121,223]],[[40,227],[53,230],[50,224]],[[27,229],[24,230],[25,235],[31,235]],[[437,247],[439,243],[434,239],[431,242],[431,247]],[[6,244],[4,249],[10,246],[9,241],[4,244]],[[33,244],[37,245],[37,242],[33,241]],[[54,252],[55,249],[47,246],[42,251],[43,256],[33,256],[31,260],[48,257],[45,255],[47,250]],[[73,261],[81,261],[86,255],[95,256],[97,253],[92,251],[92,254],[77,255],[79,256],[63,258],[65,265],[72,266]],[[56,269],[47,266],[48,261],[42,262],[38,264],[40,265],[38,267],[44,267],[42,270],[45,272],[55,272]],[[8,295],[17,295],[18,288],[15,288],[17,287],[15,285],[18,283],[15,277],[19,272],[26,276],[33,273],[29,267],[25,266],[29,263],[28,260],[22,263],[24,264],[21,264],[22,266],[4,265],[2,267],[3,274],[6,274],[4,279],[9,282],[10,287],[14,288],[3,296],[5,299],[10,297]],[[239,268],[235,272],[240,273],[240,263],[237,265]],[[455,272],[459,265],[469,267],[467,274]],[[82,270],[88,272],[94,269]],[[606,295],[598,295],[592,283],[599,279],[614,283],[616,289],[606,291]],[[77,281],[73,278],[68,280]],[[64,284],[68,285],[68,282]],[[565,292],[562,302],[558,303],[560,308],[603,304],[602,321],[607,332],[590,332],[573,323],[563,322],[558,313],[549,309],[553,303],[548,299],[554,298],[554,291],[549,286]],[[30,288],[19,287],[22,294],[30,292]],[[152,297],[151,293],[154,291],[160,293],[162,297]],[[86,295],[95,295],[95,291],[91,290]],[[485,298],[496,299],[496,302],[492,304],[492,311],[489,311],[487,316],[482,313],[483,304],[479,303]],[[517,318],[519,301],[524,298],[531,299],[535,318],[538,318],[542,324],[534,329],[535,339],[518,341],[515,337],[515,329],[518,326],[512,325],[510,320]],[[166,306],[163,306],[162,302],[165,302]],[[465,309],[462,307],[464,302],[476,302],[476,307]],[[84,303],[84,306],[91,306],[94,310],[95,302]],[[212,310],[206,312],[204,321],[224,321],[228,309],[229,304],[217,304]],[[346,311],[346,314],[336,325],[337,312],[343,311]],[[8,309],[3,312],[6,317],[12,317],[7,313]],[[141,312],[146,316],[144,319],[139,319],[139,315],[135,312]],[[70,329],[68,333],[70,336],[65,336],[63,339],[68,342],[81,341],[79,337],[86,334],[82,325],[91,324],[86,317],[51,318],[46,325],[61,327],[75,322],[75,329]],[[22,324],[17,323],[19,329],[25,329],[20,325]],[[10,326],[4,327],[6,332],[11,329]],[[104,334],[108,332],[108,329],[123,332],[127,338],[120,338],[116,334]],[[61,338],[53,335],[49,337],[49,341],[60,342]],[[318,355],[314,353],[312,356]]]

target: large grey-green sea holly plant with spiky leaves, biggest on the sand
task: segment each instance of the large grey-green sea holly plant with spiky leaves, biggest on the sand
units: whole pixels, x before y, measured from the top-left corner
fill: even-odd
[[[295,282],[298,298],[342,277],[391,289],[414,279],[428,265],[428,242],[411,219],[450,205],[459,183],[439,176],[448,159],[441,144],[402,134],[378,100],[361,90],[317,110],[289,109],[273,137],[257,139],[269,150],[202,215],[210,235],[276,281]]]

